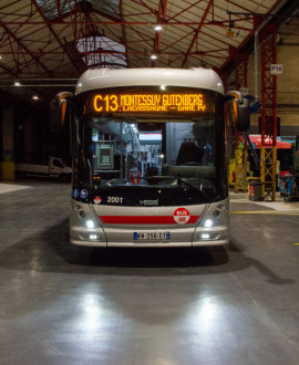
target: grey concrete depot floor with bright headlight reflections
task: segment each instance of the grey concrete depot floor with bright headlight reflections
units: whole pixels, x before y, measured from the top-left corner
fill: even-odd
[[[69,185],[0,192],[1,364],[299,364],[299,202],[231,195],[226,248],[99,250]]]

